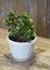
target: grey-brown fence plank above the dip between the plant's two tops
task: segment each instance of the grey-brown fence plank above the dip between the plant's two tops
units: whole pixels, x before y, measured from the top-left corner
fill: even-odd
[[[16,13],[22,14],[23,12],[29,11],[29,1],[28,0],[17,0],[16,2]]]

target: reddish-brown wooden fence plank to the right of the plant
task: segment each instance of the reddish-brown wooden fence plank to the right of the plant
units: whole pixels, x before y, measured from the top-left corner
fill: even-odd
[[[46,37],[47,0],[38,0],[37,13],[37,34]]]

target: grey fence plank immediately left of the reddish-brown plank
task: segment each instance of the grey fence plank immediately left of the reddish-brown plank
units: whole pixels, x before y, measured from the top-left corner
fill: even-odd
[[[37,0],[29,0],[29,16],[35,18],[35,31],[37,26]]]

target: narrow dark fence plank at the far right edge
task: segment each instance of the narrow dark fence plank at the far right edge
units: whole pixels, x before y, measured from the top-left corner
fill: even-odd
[[[47,0],[47,37],[50,38],[50,0]]]

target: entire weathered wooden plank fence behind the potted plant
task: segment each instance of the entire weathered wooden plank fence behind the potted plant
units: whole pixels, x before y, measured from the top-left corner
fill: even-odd
[[[0,0],[0,27],[10,10],[16,14],[27,12],[35,18],[35,31],[38,36],[50,37],[50,0]]]

